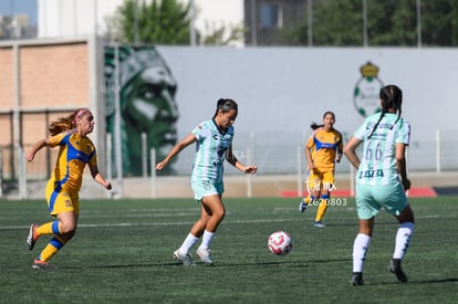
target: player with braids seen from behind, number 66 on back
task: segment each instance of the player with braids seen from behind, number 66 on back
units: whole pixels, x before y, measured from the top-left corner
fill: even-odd
[[[410,141],[410,125],[400,117],[403,92],[387,85],[379,92],[382,113],[368,116],[356,129],[344,148],[350,163],[357,169],[356,210],[360,231],[353,244],[353,274],[351,283],[363,285],[363,268],[374,230],[375,216],[381,208],[393,214],[399,227],[395,239],[389,271],[399,282],[407,282],[400,261],[414,233],[414,211],[405,191],[410,188],[407,178],[406,147]],[[361,158],[357,147],[363,144]]]

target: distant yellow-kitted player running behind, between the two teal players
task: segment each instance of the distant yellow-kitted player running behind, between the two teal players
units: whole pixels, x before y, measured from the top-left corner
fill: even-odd
[[[323,115],[323,124],[311,125],[313,133],[305,145],[308,160],[306,189],[309,195],[301,201],[299,210],[303,212],[311,202],[319,203],[314,226],[323,228],[330,195],[335,189],[334,168],[343,154],[342,134],[334,128],[335,115],[327,111]]]

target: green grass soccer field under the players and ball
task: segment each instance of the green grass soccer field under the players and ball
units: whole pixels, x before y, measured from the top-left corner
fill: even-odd
[[[44,200],[0,200],[0,303],[457,303],[458,198],[410,202],[417,226],[403,263],[409,282],[387,271],[397,226],[381,212],[366,285],[352,286],[352,199],[330,207],[324,229],[312,226],[316,208],[300,213],[298,199],[226,199],[215,265],[188,268],[171,253],[199,216],[192,199],[83,199],[76,235],[51,271],[31,268],[49,238],[25,249],[29,224],[52,219]],[[275,230],[293,238],[285,256],[267,248]]]

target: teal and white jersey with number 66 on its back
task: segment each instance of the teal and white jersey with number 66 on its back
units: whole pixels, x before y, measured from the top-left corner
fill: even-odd
[[[399,182],[396,167],[396,144],[410,141],[410,125],[400,118],[396,125],[396,114],[386,113],[367,139],[381,114],[368,116],[354,136],[364,141],[356,182],[362,185],[393,185]]]

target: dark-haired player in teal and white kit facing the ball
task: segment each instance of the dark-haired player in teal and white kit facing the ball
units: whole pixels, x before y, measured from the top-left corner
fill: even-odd
[[[246,174],[256,174],[256,166],[244,166],[232,154],[233,123],[238,114],[238,105],[232,99],[220,98],[211,119],[192,129],[192,132],[171,148],[169,154],[156,165],[157,170],[167,166],[168,161],[187,146],[196,143],[190,184],[196,201],[200,202],[200,218],[192,226],[189,234],[173,256],[185,265],[192,265],[189,250],[202,238],[197,255],[207,264],[212,264],[210,243],[219,223],[226,214],[222,205],[225,191],[222,176],[223,163]]]

